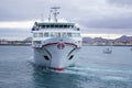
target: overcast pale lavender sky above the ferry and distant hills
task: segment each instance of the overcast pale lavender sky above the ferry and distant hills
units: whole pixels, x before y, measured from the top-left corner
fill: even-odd
[[[82,35],[118,37],[132,35],[132,0],[1,0],[0,37],[28,37],[50,8],[61,7],[59,19],[80,25]]]

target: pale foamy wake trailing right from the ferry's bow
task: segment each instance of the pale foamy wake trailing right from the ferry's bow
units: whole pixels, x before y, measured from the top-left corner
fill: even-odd
[[[88,66],[75,65],[74,67],[67,67],[64,70],[54,70],[51,68],[35,65],[33,57],[30,57],[28,62],[36,69],[41,72],[59,73],[66,75],[78,75],[86,78],[95,78],[101,80],[118,80],[118,81],[132,81],[132,70],[110,69],[110,68],[94,68]],[[38,72],[40,72],[38,70]]]

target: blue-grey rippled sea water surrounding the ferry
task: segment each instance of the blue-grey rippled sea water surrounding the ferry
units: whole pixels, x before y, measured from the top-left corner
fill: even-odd
[[[82,46],[75,67],[63,72],[32,63],[31,46],[0,46],[0,88],[132,88],[131,47]]]

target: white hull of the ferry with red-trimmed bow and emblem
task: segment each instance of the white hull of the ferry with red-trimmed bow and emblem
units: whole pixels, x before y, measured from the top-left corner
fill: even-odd
[[[34,48],[35,64],[63,69],[74,65],[78,59],[79,47],[72,43],[75,42],[72,38],[51,38],[41,48]]]

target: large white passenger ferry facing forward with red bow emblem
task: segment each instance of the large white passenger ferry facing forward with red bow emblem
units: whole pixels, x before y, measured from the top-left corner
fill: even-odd
[[[82,42],[78,24],[57,20],[59,9],[51,8],[48,20],[35,22],[32,28],[35,64],[56,70],[75,65]]]

